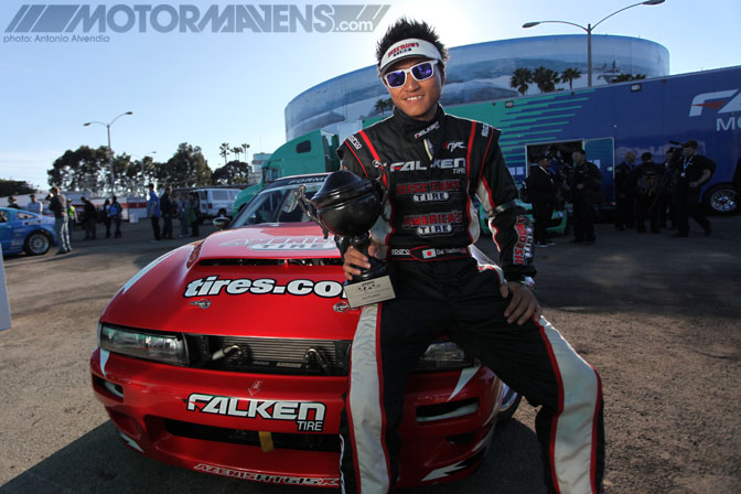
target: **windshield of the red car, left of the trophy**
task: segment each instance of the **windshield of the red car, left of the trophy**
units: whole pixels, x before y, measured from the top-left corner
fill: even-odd
[[[307,197],[311,198],[323,182],[304,183]],[[247,204],[230,228],[260,223],[308,222],[309,218],[299,206],[298,190],[301,183],[275,184],[262,190]]]

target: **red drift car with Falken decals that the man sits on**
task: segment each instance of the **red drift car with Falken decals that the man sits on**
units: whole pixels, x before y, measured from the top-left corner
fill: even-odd
[[[343,298],[333,239],[308,222],[294,193],[303,184],[311,196],[325,178],[273,182],[228,229],[165,254],[116,293],[90,372],[128,447],[217,475],[339,486],[359,311]],[[405,399],[400,486],[473,472],[497,420],[519,402],[442,336],[420,357]]]

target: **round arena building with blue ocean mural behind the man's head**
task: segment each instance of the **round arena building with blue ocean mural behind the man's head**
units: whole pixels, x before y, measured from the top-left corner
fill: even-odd
[[[509,86],[516,68],[545,66],[557,73],[578,68],[582,75],[573,88],[587,86],[587,35],[551,35],[490,41],[450,49],[447,83],[441,103],[445,107],[470,105],[517,96]],[[592,86],[609,84],[620,74],[646,77],[669,73],[669,52],[658,43],[638,37],[592,35]],[[561,83],[556,89],[568,89]],[[526,94],[538,94],[531,84]],[[286,138],[325,130],[344,139],[366,118],[388,114],[378,108],[388,94],[369,66],[340,75],[307,89],[286,107]]]

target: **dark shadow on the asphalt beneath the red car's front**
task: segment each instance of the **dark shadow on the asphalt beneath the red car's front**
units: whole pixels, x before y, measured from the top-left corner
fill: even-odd
[[[516,445],[516,447],[515,447]],[[496,486],[500,494],[538,494],[541,469],[535,434],[516,420],[502,425],[494,434],[488,457],[472,476],[462,482],[414,493],[485,493]],[[288,487],[191,472],[149,460],[125,447],[110,421],[58,450],[47,459],[0,486],[3,494],[108,494],[149,493],[318,493],[315,488]],[[336,492],[336,491],[322,491]]]

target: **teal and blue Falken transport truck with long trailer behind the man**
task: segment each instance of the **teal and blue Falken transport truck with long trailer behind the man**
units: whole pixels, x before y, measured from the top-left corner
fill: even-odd
[[[704,186],[704,203],[716,214],[732,214],[739,208],[741,66],[445,109],[501,129],[500,144],[518,183],[527,176],[528,164],[536,155],[551,154],[555,164],[561,158],[568,165],[571,151],[583,148],[587,159],[602,172],[603,208],[608,212],[614,207],[614,165],[627,151],[636,157],[649,151],[661,163],[669,148],[695,139],[698,152],[717,164],[712,179]],[[367,127],[378,120],[366,119],[362,125]],[[345,137],[337,139],[314,130],[287,142],[264,164],[265,182],[336,170],[334,151]],[[255,189],[260,186],[264,183]],[[255,192],[243,192],[235,210]],[[565,225],[566,215],[556,212],[551,226],[562,232]]]

